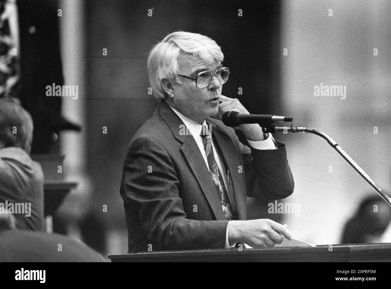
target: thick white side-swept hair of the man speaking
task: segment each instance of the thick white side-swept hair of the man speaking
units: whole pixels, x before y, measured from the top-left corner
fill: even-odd
[[[178,61],[183,53],[199,55],[207,64],[216,60],[222,62],[224,55],[217,43],[207,36],[176,31],[167,35],[158,42],[148,56],[148,76],[152,92],[159,101],[167,97],[161,79],[181,83],[178,74],[181,74],[181,67]]]

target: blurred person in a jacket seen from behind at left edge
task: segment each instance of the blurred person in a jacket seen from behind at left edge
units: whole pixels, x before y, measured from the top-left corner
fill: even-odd
[[[0,99],[0,213],[13,213],[18,229],[41,231],[43,172],[29,155],[32,132],[32,118],[19,101]]]

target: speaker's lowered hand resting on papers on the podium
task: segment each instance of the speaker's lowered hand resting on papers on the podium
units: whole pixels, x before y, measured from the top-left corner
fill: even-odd
[[[228,227],[228,242],[235,244],[246,243],[253,248],[274,247],[281,244],[282,236],[292,239],[289,230],[270,219],[256,219],[247,221],[230,221]]]

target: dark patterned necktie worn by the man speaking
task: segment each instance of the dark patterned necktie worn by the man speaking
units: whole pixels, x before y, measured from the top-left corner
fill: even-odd
[[[224,181],[222,179],[222,175],[220,173],[219,167],[215,161],[215,156],[213,154],[212,148],[212,137],[209,134],[208,127],[203,125],[201,130],[201,136],[203,138],[204,149],[206,152],[206,158],[208,159],[209,172],[212,176],[213,183],[215,184],[215,188],[217,194],[219,195],[219,199],[221,201],[221,207],[224,212],[226,219],[232,220],[232,207],[230,203],[230,199],[228,198],[228,193],[224,185]]]

